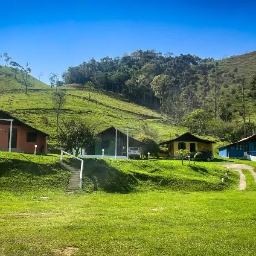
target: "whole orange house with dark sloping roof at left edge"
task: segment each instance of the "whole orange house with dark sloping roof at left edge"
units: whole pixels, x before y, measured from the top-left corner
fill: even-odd
[[[0,151],[9,151],[10,120],[13,120],[11,141],[12,151],[34,153],[35,145],[37,145],[37,153],[46,153],[48,134],[25,124],[5,111],[0,111]]]

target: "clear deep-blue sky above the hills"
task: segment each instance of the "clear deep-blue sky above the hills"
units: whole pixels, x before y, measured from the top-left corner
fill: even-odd
[[[1,3],[0,53],[28,61],[47,83],[50,72],[136,49],[216,59],[256,50],[255,1],[9,2]]]

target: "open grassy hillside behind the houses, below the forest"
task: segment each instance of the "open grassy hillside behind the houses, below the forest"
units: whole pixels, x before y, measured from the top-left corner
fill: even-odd
[[[30,77],[31,90],[28,95],[23,91],[23,86],[15,81],[12,70],[9,67],[1,66],[2,76],[0,77],[0,109],[12,113],[14,116],[27,122],[50,135],[55,134],[55,113],[52,111],[51,89],[46,84]],[[6,90],[7,82],[12,87]],[[32,90],[33,89],[33,90]],[[150,122],[160,134],[161,140],[174,137],[175,133],[186,131],[184,127],[175,127],[174,121],[167,116],[161,116],[157,111],[151,110],[131,102],[128,102],[120,95],[107,91],[89,91],[67,86],[67,104],[61,113],[61,117],[76,118],[82,117],[95,126],[97,132],[116,126],[121,130],[131,129],[131,135],[140,133],[142,122]],[[96,99],[98,103],[96,105]],[[50,138],[51,140],[51,138]]]

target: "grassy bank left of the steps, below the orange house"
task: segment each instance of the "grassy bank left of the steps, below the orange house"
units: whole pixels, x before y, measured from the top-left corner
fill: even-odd
[[[35,191],[64,191],[70,172],[58,164],[58,156],[34,156],[0,152],[0,193],[19,195]]]

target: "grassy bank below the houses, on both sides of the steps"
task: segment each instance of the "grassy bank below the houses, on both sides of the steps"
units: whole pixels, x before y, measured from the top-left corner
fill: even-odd
[[[0,191],[19,194],[65,191],[70,172],[58,164],[58,155],[34,156],[0,152]],[[65,158],[78,165],[77,160]],[[181,166],[180,160],[84,159],[83,188],[86,192],[139,192],[156,189],[218,191],[235,189],[238,174],[218,162]]]

